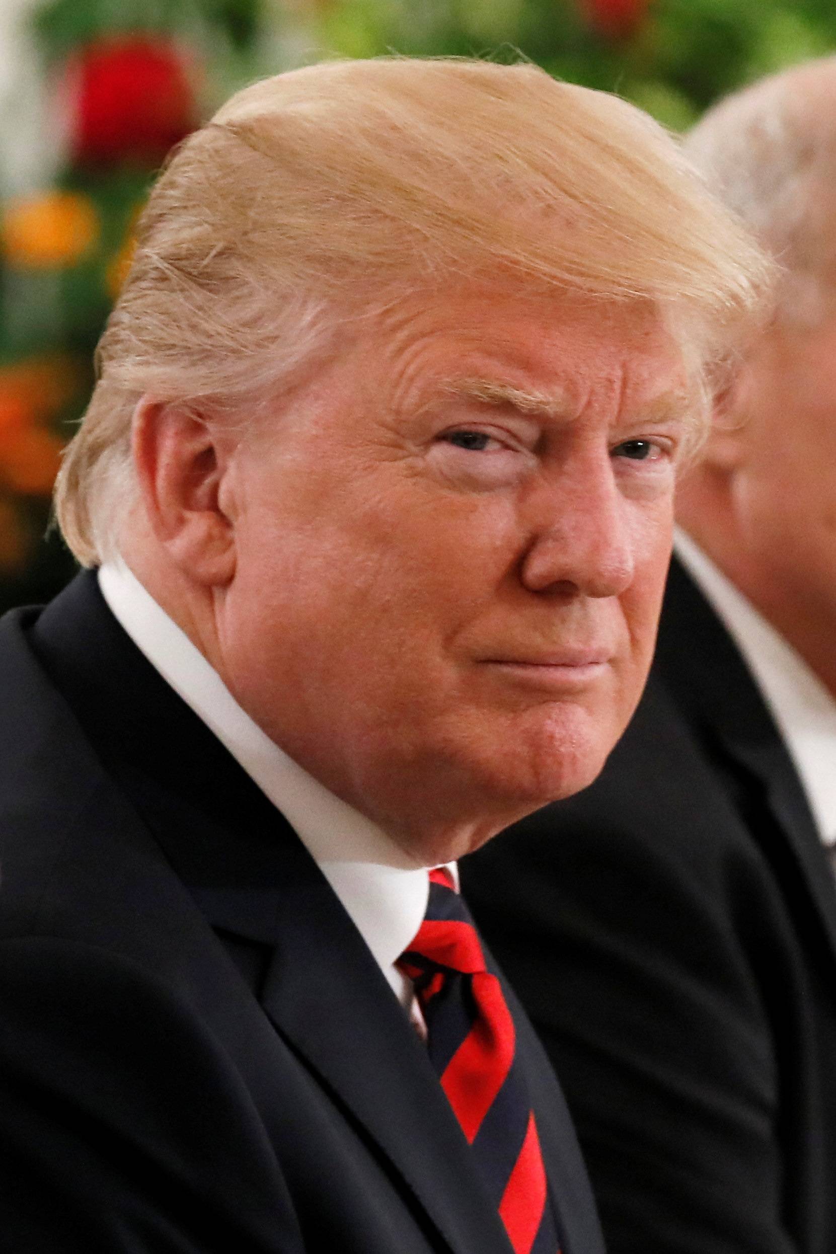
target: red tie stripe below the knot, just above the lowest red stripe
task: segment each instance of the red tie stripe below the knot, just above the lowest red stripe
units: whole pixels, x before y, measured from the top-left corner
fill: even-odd
[[[484,971],[471,978],[479,1018],[445,1067],[441,1087],[473,1145],[510,1071],[515,1033],[496,976]]]

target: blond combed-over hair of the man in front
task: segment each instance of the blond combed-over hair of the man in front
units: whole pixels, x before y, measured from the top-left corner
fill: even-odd
[[[768,282],[659,125],[534,65],[331,61],[239,92],[175,152],[140,219],[56,488],[79,561],[118,548],[140,396],[244,415],[341,320],[496,273],[657,303],[696,393]]]

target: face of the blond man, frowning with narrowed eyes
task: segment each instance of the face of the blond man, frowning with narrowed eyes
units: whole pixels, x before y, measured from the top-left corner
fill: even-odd
[[[589,784],[649,665],[683,409],[643,308],[498,285],[365,324],[234,459],[228,685],[424,860]]]

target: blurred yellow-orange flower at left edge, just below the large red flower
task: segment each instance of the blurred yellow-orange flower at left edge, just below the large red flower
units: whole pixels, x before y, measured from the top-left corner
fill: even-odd
[[[10,265],[55,270],[73,266],[99,238],[99,214],[78,192],[44,192],[9,201],[3,247]]]

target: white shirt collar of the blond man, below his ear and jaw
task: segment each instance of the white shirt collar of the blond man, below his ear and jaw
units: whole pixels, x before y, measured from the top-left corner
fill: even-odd
[[[282,811],[401,1004],[414,1012],[411,982],[395,961],[424,919],[426,867],[323,788],[253,722],[203,653],[123,562],[105,563],[99,569],[99,586],[112,613],[152,666]]]

